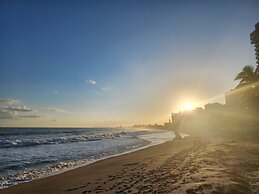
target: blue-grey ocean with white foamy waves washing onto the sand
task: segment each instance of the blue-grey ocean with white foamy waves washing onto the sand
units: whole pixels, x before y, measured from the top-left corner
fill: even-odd
[[[0,189],[174,137],[153,129],[0,128]]]

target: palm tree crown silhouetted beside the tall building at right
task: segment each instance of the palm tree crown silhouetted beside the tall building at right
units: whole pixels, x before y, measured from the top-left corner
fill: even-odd
[[[254,71],[254,67],[250,65],[246,65],[242,71],[237,74],[235,81],[240,80],[239,84],[237,85],[236,88],[240,88],[245,85],[249,85],[252,83],[255,83],[256,81],[259,80],[259,72],[258,72],[258,67]]]

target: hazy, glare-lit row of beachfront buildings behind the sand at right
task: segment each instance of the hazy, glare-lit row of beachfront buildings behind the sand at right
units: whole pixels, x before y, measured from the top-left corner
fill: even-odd
[[[250,34],[255,46],[257,68],[249,82],[241,82],[225,93],[225,104],[211,103],[193,111],[172,113],[172,129],[178,132],[200,135],[233,135],[233,131],[245,134],[259,132],[259,22]],[[246,72],[244,72],[246,73]],[[168,125],[168,124],[167,124]],[[237,134],[237,133],[235,133]]]

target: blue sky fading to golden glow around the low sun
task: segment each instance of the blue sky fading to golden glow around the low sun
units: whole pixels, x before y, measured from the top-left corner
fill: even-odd
[[[0,126],[163,123],[224,103],[258,0],[0,1]]]

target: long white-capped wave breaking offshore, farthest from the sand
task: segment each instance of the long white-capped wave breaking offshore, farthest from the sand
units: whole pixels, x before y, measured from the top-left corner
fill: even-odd
[[[115,139],[118,137],[125,136],[125,132],[110,133],[110,134],[97,134],[97,135],[80,135],[80,136],[65,136],[56,138],[45,138],[45,139],[0,139],[0,149],[12,148],[12,147],[28,147],[37,145],[49,145],[49,144],[66,144],[73,142],[85,142],[85,141],[99,141],[103,139]]]

